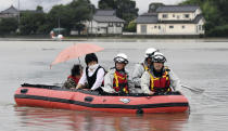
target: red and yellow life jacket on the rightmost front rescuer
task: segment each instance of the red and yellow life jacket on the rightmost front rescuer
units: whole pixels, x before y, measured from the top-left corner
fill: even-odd
[[[167,67],[164,67],[164,71],[162,77],[154,77],[150,71],[150,90],[153,92],[170,92],[170,79],[168,71],[169,69]]]

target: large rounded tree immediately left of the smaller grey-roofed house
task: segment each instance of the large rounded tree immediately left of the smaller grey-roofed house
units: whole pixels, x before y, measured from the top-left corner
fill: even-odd
[[[83,27],[78,26],[81,22],[87,21],[91,17],[91,12],[94,6],[89,0],[73,0],[71,3],[63,5],[55,5],[48,13],[48,21],[52,28],[59,27],[66,28],[67,32],[71,29],[81,30]]]

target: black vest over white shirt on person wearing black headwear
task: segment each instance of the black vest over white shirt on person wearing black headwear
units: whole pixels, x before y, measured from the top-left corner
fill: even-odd
[[[91,89],[92,86],[94,84],[96,80],[97,80],[97,74],[98,74],[98,70],[100,68],[103,68],[102,66],[98,66],[98,68],[96,69],[96,71],[93,73],[92,76],[89,77],[89,73],[88,73],[88,68],[89,67],[86,67],[86,77],[87,77],[87,81],[88,81],[88,88]],[[103,68],[104,69],[104,68]],[[103,82],[102,82],[103,83]],[[102,84],[101,84],[102,87]],[[102,90],[101,88],[98,88],[97,90]]]

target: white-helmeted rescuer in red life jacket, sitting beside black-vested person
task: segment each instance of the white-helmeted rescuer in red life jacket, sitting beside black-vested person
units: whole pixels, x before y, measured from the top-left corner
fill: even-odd
[[[114,57],[115,67],[111,68],[104,76],[103,91],[107,93],[131,93],[134,83],[129,78],[129,73],[125,69],[128,64],[127,55],[118,53]]]

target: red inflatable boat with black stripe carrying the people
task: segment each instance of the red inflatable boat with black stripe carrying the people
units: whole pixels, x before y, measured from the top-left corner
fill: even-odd
[[[65,90],[55,86],[22,84],[15,92],[18,106],[94,110],[110,113],[183,113],[188,100],[179,92],[169,94],[99,94],[86,90]]]

